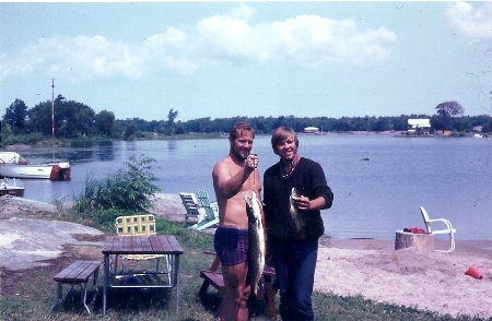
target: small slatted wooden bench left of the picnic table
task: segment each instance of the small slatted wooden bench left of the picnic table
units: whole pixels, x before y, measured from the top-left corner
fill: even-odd
[[[77,260],[63,271],[58,273],[52,277],[57,282],[57,300],[51,307],[51,311],[54,311],[55,307],[58,305],[59,300],[63,297],[62,296],[62,284],[71,284],[72,286],[67,292],[67,295],[73,289],[73,286],[75,284],[80,285],[80,287],[83,289],[84,295],[82,297],[82,304],[84,305],[85,309],[87,310],[89,314],[91,314],[91,310],[89,310],[89,307],[86,305],[87,299],[87,283],[91,275],[93,275],[93,285],[97,285],[97,277],[99,274],[99,265],[101,261],[84,261],[84,260]],[[97,292],[97,287],[96,287]]]

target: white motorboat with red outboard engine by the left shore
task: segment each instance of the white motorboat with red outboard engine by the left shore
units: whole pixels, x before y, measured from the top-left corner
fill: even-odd
[[[0,152],[0,177],[70,180],[68,162],[32,165],[15,152]]]

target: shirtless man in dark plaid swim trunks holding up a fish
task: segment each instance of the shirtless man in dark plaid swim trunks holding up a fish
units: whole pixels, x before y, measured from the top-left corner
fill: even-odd
[[[255,131],[249,124],[235,123],[229,136],[230,153],[212,171],[220,217],[214,248],[221,259],[225,285],[224,299],[218,310],[222,321],[246,321],[249,317],[249,285],[246,285],[248,217],[244,197],[254,191],[261,201],[260,177],[255,170],[258,157],[250,155],[254,139]]]

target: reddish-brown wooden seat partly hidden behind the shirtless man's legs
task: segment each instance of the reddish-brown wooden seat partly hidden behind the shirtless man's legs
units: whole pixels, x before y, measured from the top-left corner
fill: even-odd
[[[216,271],[221,264],[221,260],[219,259],[219,257],[216,257],[215,252],[206,251],[204,253],[215,255],[215,259],[213,260],[212,265],[209,270],[200,271],[200,277],[203,278],[203,283],[201,284],[198,294],[200,296],[204,295],[210,285],[216,288],[220,294],[225,294],[224,276],[221,272]],[[276,276],[276,271],[270,266],[265,265],[263,273],[260,280],[261,286],[259,286],[257,293],[257,299],[267,301],[270,320],[272,321],[277,320],[276,294],[278,289],[273,288]]]

